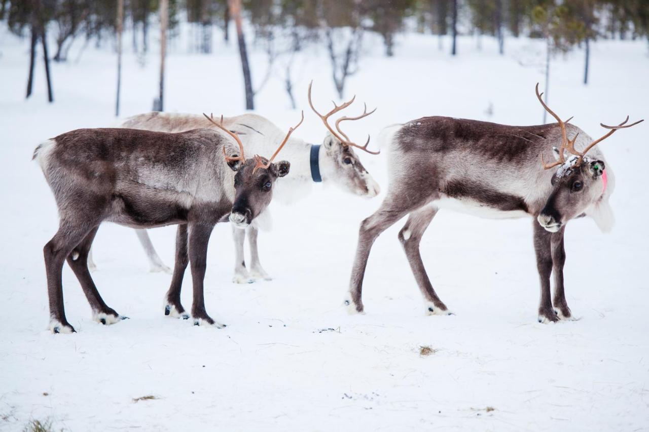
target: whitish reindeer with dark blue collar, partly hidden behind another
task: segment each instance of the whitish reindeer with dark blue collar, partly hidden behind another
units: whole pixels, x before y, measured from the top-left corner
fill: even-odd
[[[311,189],[313,182],[332,183],[341,189],[360,195],[362,197],[375,197],[379,193],[379,186],[372,176],[367,172],[360,159],[354,152],[354,147],[369,154],[378,154],[367,149],[369,137],[365,145],[356,145],[340,128],[343,121],[353,121],[367,117],[375,110],[367,112],[367,105],[363,114],[357,117],[343,116],[337,119],[336,129],[327,123],[328,118],[349,107],[355,97],[348,102],[337,106],[326,115],[318,114],[313,107],[311,100],[311,88],[309,84],[308,100],[312,110],[322,119],[328,130],[323,145],[312,145],[302,139],[291,138],[291,145],[284,150],[284,157],[291,162],[291,176],[278,182],[274,193],[274,199],[280,202],[290,203],[304,197]],[[204,119],[201,115],[193,114],[164,114],[152,112],[148,114],[134,115],[129,117],[122,127],[155,130],[159,132],[182,132],[202,125]],[[275,141],[276,137],[282,134],[281,130],[273,125],[271,121],[257,114],[243,114],[236,117],[224,119],[225,126],[236,132],[241,139],[245,149],[253,149],[261,152],[267,150]],[[233,224],[232,236],[235,244],[234,258],[234,283],[252,283],[256,280],[271,280],[260,263],[257,246],[259,225],[267,223],[268,211],[259,219],[256,219],[245,230],[240,230]],[[145,230],[136,230],[138,239],[143,246],[152,271],[166,270],[167,267],[156,253],[153,243]],[[248,235],[251,251],[251,266],[248,270],[245,266],[243,255],[243,243]],[[91,259],[92,262],[92,259]],[[91,267],[94,265],[92,264]]]

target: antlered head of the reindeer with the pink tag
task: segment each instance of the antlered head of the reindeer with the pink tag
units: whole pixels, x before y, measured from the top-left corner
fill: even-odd
[[[557,232],[570,219],[578,217],[593,206],[600,205],[604,198],[607,186],[606,165],[604,161],[588,156],[587,152],[600,141],[613,135],[616,130],[630,128],[643,120],[626,125],[629,121],[627,116],[626,120],[617,126],[607,126],[600,123],[602,127],[609,129],[609,132],[591,142],[583,151],[578,151],[574,148],[574,143],[577,141],[579,134],[576,134],[572,139],[568,139],[566,131],[565,124],[572,117],[562,121],[559,116],[554,114],[541,99],[543,93],[539,93],[539,84],[536,84],[536,95],[543,107],[557,119],[561,128],[561,147],[559,149],[553,148],[556,161],[545,163],[543,156],[541,156],[541,162],[545,169],[552,169],[556,166],[559,169],[552,175],[552,192],[537,217],[537,221],[543,228],[550,232]],[[565,152],[569,153],[569,158],[565,157]]]

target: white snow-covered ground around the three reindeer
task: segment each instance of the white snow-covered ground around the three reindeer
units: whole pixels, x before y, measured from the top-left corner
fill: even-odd
[[[531,219],[451,211],[437,215],[421,249],[437,293],[456,315],[424,316],[397,241],[404,221],[374,245],[367,314],[347,315],[341,301],[358,225],[383,194],[364,200],[318,184],[293,206],[271,204],[273,230],[260,235],[271,282],[233,284],[230,226],[215,228],[206,306],[227,328],[165,317],[170,276],[147,271],[132,230],[105,224],[94,243],[93,278],[106,303],[131,319],[93,322],[66,265],[67,318],[78,333],[52,335],[45,330],[42,247],[58,219],[32,150],[68,130],[114,124],[116,58],[109,46],[91,44],[75,63],[78,43],[70,64],[53,64],[55,103],[45,102],[40,62],[35,94],[25,101],[28,42],[0,32],[0,429],[49,418],[66,431],[649,430],[647,122],[602,144],[617,176],[613,232],[601,234],[586,219],[567,229],[567,299],[581,320],[537,323]],[[498,56],[487,38],[478,51],[467,37],[457,58],[438,51],[433,36],[400,37],[394,58],[382,56],[380,44],[372,45],[378,41],[366,42],[375,48],[365,52],[347,95],[378,110],[350,125],[358,140],[424,115],[541,121],[533,93],[543,82],[541,42],[510,39]],[[219,43],[214,54],[201,55],[186,54],[183,43],[175,42],[167,59],[165,109],[243,112],[236,45]],[[265,59],[252,49],[251,60],[258,82]],[[646,41],[594,43],[589,86],[581,84],[582,62],[578,51],[552,64],[550,106],[559,115],[574,115],[592,136],[604,134],[600,122],[649,119]],[[157,67],[154,55],[140,66],[125,54],[123,115],[151,109]],[[306,88],[313,78],[319,106],[335,99],[326,53],[311,49],[295,67],[306,117],[295,135],[319,143],[324,128],[308,109]],[[256,104],[280,128],[299,117],[278,77]],[[385,191],[385,156],[360,157]],[[175,227],[151,236],[172,265]],[[186,277],[185,306],[190,282]],[[421,346],[432,354],[421,356]],[[154,399],[135,402],[149,395]]]

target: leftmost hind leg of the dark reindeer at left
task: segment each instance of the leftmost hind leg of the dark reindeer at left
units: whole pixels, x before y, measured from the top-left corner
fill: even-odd
[[[63,304],[63,263],[80,241],[88,235],[99,221],[88,224],[85,221],[61,219],[58,231],[43,247],[45,272],[47,273],[47,294],[49,296],[49,330],[53,333],[73,333],[75,329],[67,322]]]

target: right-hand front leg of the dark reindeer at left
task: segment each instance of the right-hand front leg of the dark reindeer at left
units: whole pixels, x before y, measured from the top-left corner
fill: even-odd
[[[191,305],[191,317],[195,326],[215,326],[223,328],[225,325],[216,322],[205,311],[205,298],[203,282],[205,279],[205,268],[207,266],[207,246],[210,241],[210,234],[214,224],[190,224],[190,267],[191,282],[193,284],[193,304]]]

